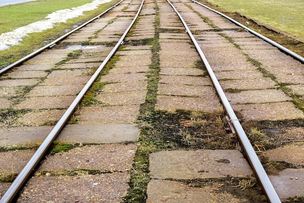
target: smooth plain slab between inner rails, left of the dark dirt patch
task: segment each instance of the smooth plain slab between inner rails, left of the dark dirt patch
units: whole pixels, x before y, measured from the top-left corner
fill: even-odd
[[[56,140],[66,143],[121,143],[138,140],[139,132],[140,129],[133,124],[73,124],[66,125]]]

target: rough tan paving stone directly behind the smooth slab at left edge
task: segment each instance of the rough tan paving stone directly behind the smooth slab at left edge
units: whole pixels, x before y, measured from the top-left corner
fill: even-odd
[[[45,124],[55,124],[65,113],[65,110],[36,110],[26,112],[17,118],[17,122],[24,126],[43,126]]]

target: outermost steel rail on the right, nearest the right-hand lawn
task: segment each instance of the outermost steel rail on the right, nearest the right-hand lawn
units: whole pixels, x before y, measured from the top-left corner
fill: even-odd
[[[250,28],[246,27],[245,25],[243,25],[243,24],[237,22],[236,20],[234,20],[234,19],[232,19],[232,18],[226,16],[225,14],[222,14],[222,13],[220,13],[220,12],[217,11],[217,10],[214,10],[214,9],[212,9],[212,8],[209,8],[208,6],[204,5],[203,3],[197,2],[197,1],[195,1],[195,0],[191,0],[191,1],[193,1],[194,3],[197,3],[197,4],[201,5],[201,6],[203,6],[203,7],[207,8],[207,9],[209,9],[209,10],[211,10],[211,11],[213,11],[213,12],[219,14],[219,15],[221,15],[221,16],[224,17],[224,18],[229,19],[231,22],[233,22],[233,23],[235,23],[236,25],[238,25],[238,26],[244,28],[244,29],[247,30],[248,32],[252,33],[253,35],[255,35],[255,36],[257,36],[257,37],[260,37],[261,39],[263,39],[263,40],[269,42],[270,44],[272,44],[273,46],[279,48],[280,50],[282,50],[283,52],[287,53],[288,55],[291,55],[292,57],[294,57],[294,58],[296,58],[296,59],[298,59],[299,61],[301,61],[301,62],[304,63],[304,57],[302,57],[301,55],[298,55],[298,54],[294,53],[293,51],[287,49],[286,47],[284,47],[284,46],[282,46],[282,45],[280,45],[280,44],[278,44],[278,43],[272,41],[270,38],[265,37],[265,36],[263,36],[263,35],[261,35],[261,34],[255,32],[255,31],[253,31],[252,29],[250,29]]]

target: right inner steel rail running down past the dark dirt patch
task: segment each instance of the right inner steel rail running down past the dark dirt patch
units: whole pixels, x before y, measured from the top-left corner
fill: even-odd
[[[173,4],[167,0],[169,2],[169,4],[172,6],[172,8],[174,9],[175,13],[179,16],[179,18],[181,19],[181,21],[183,22],[186,31],[188,33],[188,35],[190,36],[192,42],[194,43],[199,55],[201,56],[203,63],[209,73],[209,76],[212,80],[212,83],[216,89],[216,91],[218,92],[218,95],[220,97],[220,100],[222,102],[222,105],[225,108],[225,111],[227,112],[230,121],[232,123],[232,125],[234,126],[234,129],[236,130],[236,134],[237,137],[241,143],[241,145],[244,148],[244,151],[248,157],[248,160],[253,168],[253,171],[255,172],[255,174],[257,175],[258,180],[260,181],[264,192],[266,194],[266,197],[268,198],[270,203],[281,203],[281,200],[279,198],[279,196],[277,195],[276,191],[273,188],[273,185],[270,182],[269,177],[266,174],[266,171],[264,169],[264,167],[262,166],[260,160],[258,159],[244,129],[242,128],[241,124],[238,121],[238,118],[236,117],[235,112],[233,111],[224,91],[222,90],[220,83],[217,79],[217,77],[215,76],[214,72],[211,69],[211,66],[209,64],[209,62],[207,61],[205,55],[203,54],[202,49],[200,48],[200,45],[198,44],[198,42],[196,41],[196,39],[193,37],[190,29],[188,28],[188,26],[186,25],[185,20],[182,18],[182,16],[179,14],[179,12],[176,10],[176,8],[173,6]]]

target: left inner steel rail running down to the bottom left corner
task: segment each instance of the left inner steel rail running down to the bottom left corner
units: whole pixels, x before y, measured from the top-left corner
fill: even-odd
[[[6,193],[2,196],[0,199],[0,203],[10,203],[15,198],[17,192],[20,190],[21,186],[26,182],[30,174],[33,172],[34,168],[37,166],[37,164],[40,162],[40,160],[43,158],[44,154],[48,150],[48,148],[51,146],[51,143],[56,138],[60,130],[64,127],[66,122],[68,121],[69,117],[72,115],[73,111],[76,109],[78,104],[81,102],[82,98],[84,97],[84,94],[89,90],[89,88],[92,86],[92,84],[95,82],[107,62],[111,59],[111,57],[115,54],[120,44],[122,44],[123,39],[126,37],[128,32],[130,31],[131,27],[135,23],[136,18],[139,15],[139,12],[141,11],[141,8],[144,4],[144,0],[142,0],[142,3],[138,9],[138,12],[135,15],[135,18],[129,25],[129,27],[126,29],[124,34],[120,37],[118,43],[115,45],[115,47],[112,49],[109,55],[104,59],[104,61],[101,63],[99,68],[96,70],[96,72],[92,75],[92,77],[89,79],[89,81],[86,83],[82,91],[77,95],[75,100],[72,102],[72,104],[68,107],[68,110],[64,113],[64,115],[60,118],[58,123],[54,126],[54,128],[51,130],[50,134],[46,137],[46,139],[43,141],[41,146],[35,151],[33,157],[30,159],[30,161],[27,163],[27,165],[22,169],[22,171],[19,173],[15,181],[12,183],[12,185],[8,188]]]

